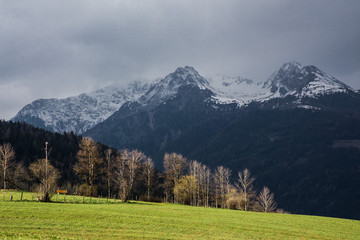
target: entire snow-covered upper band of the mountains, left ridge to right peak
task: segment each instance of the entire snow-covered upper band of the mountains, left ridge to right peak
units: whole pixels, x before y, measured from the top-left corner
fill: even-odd
[[[138,102],[153,108],[175,97],[182,86],[193,85],[211,91],[210,102],[244,107],[251,102],[294,96],[301,99],[331,93],[355,92],[315,66],[285,63],[263,83],[241,77],[215,76],[205,79],[193,67],[179,67],[175,72],[151,84],[135,82],[125,88],[107,87],[92,93],[65,99],[39,99],[26,105],[12,120],[25,121],[55,132],[84,133],[109,118],[126,102]],[[308,107],[308,106],[307,106]]]

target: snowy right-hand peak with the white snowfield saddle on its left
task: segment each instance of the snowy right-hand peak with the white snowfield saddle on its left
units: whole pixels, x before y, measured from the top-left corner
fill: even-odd
[[[254,83],[240,77],[221,76],[211,79],[210,83],[214,87],[213,100],[216,103],[237,103],[239,106],[290,95],[301,100],[304,97],[315,98],[324,94],[354,91],[315,66],[302,67],[295,61],[285,63],[264,83]]]

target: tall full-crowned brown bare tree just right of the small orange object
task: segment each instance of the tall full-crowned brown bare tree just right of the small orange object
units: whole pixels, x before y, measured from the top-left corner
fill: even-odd
[[[89,185],[89,194],[94,195],[94,182],[100,173],[103,159],[100,157],[99,147],[91,138],[83,138],[79,144],[80,150],[76,154],[75,173]]]

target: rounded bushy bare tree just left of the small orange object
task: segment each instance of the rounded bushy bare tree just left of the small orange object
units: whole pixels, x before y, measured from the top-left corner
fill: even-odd
[[[57,188],[57,180],[60,178],[59,171],[50,164],[48,159],[39,159],[32,163],[29,168],[39,182],[37,186],[39,199],[49,202]]]

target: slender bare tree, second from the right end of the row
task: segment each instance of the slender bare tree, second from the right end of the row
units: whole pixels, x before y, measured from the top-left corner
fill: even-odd
[[[240,205],[244,205],[244,210],[249,209],[251,200],[256,196],[256,192],[253,189],[253,182],[255,177],[252,177],[250,171],[245,168],[242,172],[238,172],[238,183],[237,188],[240,191],[241,199]]]

